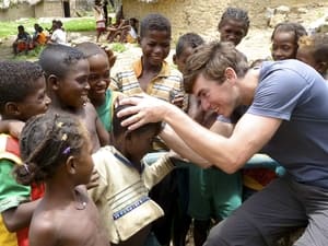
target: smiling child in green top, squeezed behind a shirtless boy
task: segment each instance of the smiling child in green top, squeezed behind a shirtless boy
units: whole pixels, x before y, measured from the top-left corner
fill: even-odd
[[[115,62],[113,59],[114,55],[109,51],[106,52],[103,48],[90,42],[79,44],[77,48],[84,54],[90,66],[90,102],[95,107],[106,130],[110,132],[114,102],[117,96],[122,95],[108,89],[110,84],[110,68]]]

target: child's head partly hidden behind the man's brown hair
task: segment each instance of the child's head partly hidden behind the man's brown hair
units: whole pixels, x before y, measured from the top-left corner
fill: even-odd
[[[187,58],[194,52],[194,49],[202,45],[204,40],[196,33],[186,33],[179,37],[173,61],[180,72],[184,71]]]

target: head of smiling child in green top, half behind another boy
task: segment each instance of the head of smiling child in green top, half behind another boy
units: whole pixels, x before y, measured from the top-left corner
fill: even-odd
[[[107,54],[98,45],[85,42],[77,46],[89,61],[89,98],[95,105],[105,102],[106,90],[110,83],[110,67]]]

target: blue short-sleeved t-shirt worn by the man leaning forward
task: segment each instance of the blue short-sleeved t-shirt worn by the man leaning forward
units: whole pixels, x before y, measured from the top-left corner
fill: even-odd
[[[263,62],[247,114],[282,119],[262,152],[296,181],[328,189],[328,85],[297,61]]]

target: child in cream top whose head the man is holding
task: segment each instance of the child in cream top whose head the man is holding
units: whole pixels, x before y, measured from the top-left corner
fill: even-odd
[[[99,185],[90,190],[112,245],[144,245],[151,223],[163,216],[163,210],[150,197],[149,190],[168,174],[174,165],[163,156],[152,165],[142,157],[152,149],[153,138],[161,131],[161,122],[147,124],[133,131],[120,124],[117,106],[113,118],[113,147],[104,147],[93,154]]]

